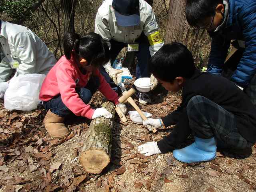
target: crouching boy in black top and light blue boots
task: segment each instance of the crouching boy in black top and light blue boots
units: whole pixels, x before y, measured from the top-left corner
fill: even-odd
[[[182,90],[182,103],[162,119],[143,122],[148,130],[176,126],[162,140],[139,146],[141,154],[174,150],[190,134],[194,143],[173,151],[174,158],[185,163],[213,160],[216,146],[243,149],[256,142],[256,108],[248,96],[226,78],[197,70],[184,45],[164,45],[151,58],[149,68],[164,88]]]

